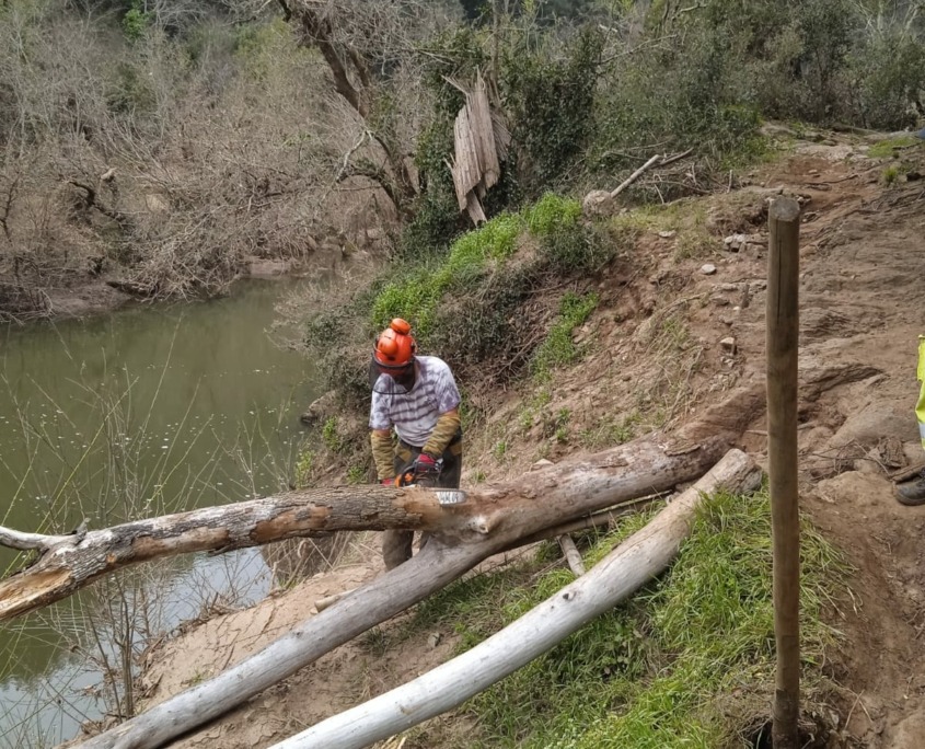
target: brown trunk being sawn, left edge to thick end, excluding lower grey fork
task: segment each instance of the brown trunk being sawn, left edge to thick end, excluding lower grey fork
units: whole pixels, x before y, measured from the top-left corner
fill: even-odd
[[[426,530],[446,545],[489,538],[512,543],[621,500],[697,479],[739,438],[761,408],[763,395],[761,387],[742,389],[677,436],[657,433],[582,461],[469,491],[460,505],[441,505],[435,489],[344,486],[139,520],[82,537],[19,534],[0,528],[0,543],[43,550],[34,565],[0,581],[0,621],[66,598],[139,562],[312,532],[406,528]]]

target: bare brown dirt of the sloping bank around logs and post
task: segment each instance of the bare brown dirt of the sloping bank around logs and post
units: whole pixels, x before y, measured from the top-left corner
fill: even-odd
[[[887,186],[887,164],[865,158],[864,143],[830,142],[756,171],[751,186],[703,199],[693,218],[672,218],[674,227],[656,218],[639,231],[635,250],[598,284],[601,304],[579,332],[591,354],[556,380],[545,408],[567,411],[570,434],[583,438],[550,439],[556,425],[524,419],[527,395],[507,393],[471,440],[463,484],[608,447],[617,434],[670,428],[732,387],[763,379],[766,205],[778,191],[798,196],[800,369],[805,384],[817,383],[803,389],[800,406],[801,502],[856,569],[830,612],[845,635],[826,664],[843,691],[843,704],[833,706],[843,727],[837,746],[913,749],[925,747],[925,507],[898,504],[887,474],[925,458],[913,415],[916,341],[925,332],[917,298],[925,185]],[[902,157],[917,159],[921,170],[925,146]],[[692,235],[709,242],[691,250],[684,242]],[[755,414],[742,443],[760,461],[764,429]],[[253,653],[311,615],[317,598],[377,575],[373,546],[368,563],[213,618],[157,650],[144,679],[149,704]],[[269,746],[453,650],[447,633],[398,644],[401,626],[390,622],[338,648],[174,746]]]

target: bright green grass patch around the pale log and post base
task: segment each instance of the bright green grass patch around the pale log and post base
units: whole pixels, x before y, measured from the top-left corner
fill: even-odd
[[[590,567],[648,518],[601,537]],[[747,722],[774,685],[770,503],[765,491],[718,495],[698,514],[671,568],[634,598],[473,698],[471,747],[684,749],[744,746]],[[530,586],[508,569],[451,586],[419,607],[413,626],[453,622],[461,649],[482,642],[573,579],[564,568]],[[802,537],[803,694],[819,685],[820,619],[844,586],[839,554],[807,523]],[[766,717],[766,712],[764,713]]]

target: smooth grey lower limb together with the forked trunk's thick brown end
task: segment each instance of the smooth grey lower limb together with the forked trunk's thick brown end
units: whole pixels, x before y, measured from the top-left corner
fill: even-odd
[[[401,613],[519,539],[623,499],[696,480],[738,439],[760,411],[763,396],[762,385],[742,389],[673,438],[650,435],[591,459],[532,472],[519,482],[481,493],[482,511],[466,515],[471,525],[465,534],[467,543],[460,543],[460,538],[451,533],[435,533],[417,556],[357,588],[259,653],[77,746],[163,746]],[[469,504],[443,510],[459,511]]]

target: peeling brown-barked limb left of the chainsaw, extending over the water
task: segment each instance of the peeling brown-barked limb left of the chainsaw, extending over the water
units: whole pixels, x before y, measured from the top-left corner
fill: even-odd
[[[21,533],[0,527],[0,545],[39,550],[32,566],[0,581],[0,621],[67,598],[103,575],[188,552],[224,552],[337,530],[455,527],[428,489],[381,486],[307,489],[138,520],[79,535]]]

